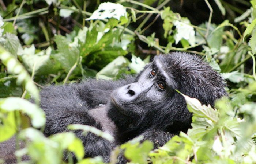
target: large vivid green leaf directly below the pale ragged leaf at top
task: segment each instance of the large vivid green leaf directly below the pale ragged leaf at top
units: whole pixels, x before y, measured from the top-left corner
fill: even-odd
[[[87,31],[86,42],[80,46],[80,55],[83,56],[85,64],[91,69],[101,70],[118,56],[127,54],[125,49],[128,39],[132,38],[122,35],[120,42],[120,34],[121,31],[117,29],[99,32],[93,27]]]

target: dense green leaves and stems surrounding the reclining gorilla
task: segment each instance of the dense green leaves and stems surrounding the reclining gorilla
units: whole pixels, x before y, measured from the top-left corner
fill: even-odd
[[[198,10],[182,0],[112,2],[0,0],[0,142],[14,135],[27,142],[22,149],[17,144],[18,162],[27,154],[26,163],[63,163],[66,151],[81,164],[103,163],[83,159],[72,132],[42,134],[39,90],[88,77],[115,80],[138,73],[153,55],[186,51],[226,79],[230,97],[214,109],[184,95],[193,113],[187,134],[156,150],[138,137],[117,147],[110,163],[122,149],[130,163],[256,163],[256,0],[197,0]],[[90,126],[69,128],[113,139]]]

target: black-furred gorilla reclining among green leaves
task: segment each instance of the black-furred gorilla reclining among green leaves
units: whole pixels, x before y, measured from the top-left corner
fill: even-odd
[[[116,145],[139,135],[157,148],[191,127],[192,114],[176,90],[211,106],[227,95],[223,78],[196,55],[156,55],[136,77],[45,87],[40,93],[44,134],[67,131],[69,124],[94,126],[114,136],[114,142],[90,132],[74,133],[83,142],[85,157],[102,156],[105,161]],[[122,155],[118,158],[118,163],[127,161]]]

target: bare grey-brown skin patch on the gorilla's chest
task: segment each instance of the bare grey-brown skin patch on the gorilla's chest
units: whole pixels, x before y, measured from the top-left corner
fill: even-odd
[[[108,109],[106,106],[90,109],[89,114],[102,126],[103,132],[109,133],[112,136],[116,133],[116,125],[107,116]]]

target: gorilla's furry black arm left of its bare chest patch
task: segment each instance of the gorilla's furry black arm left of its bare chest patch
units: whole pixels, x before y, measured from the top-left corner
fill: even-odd
[[[68,131],[69,124],[89,125],[103,130],[101,124],[90,116],[91,108],[86,101],[80,99],[78,89],[77,85],[68,85],[46,87],[41,91],[41,108],[46,114],[46,136]],[[112,150],[113,143],[93,133],[89,132],[86,136],[81,130],[74,133],[83,142],[85,157],[107,157]]]

